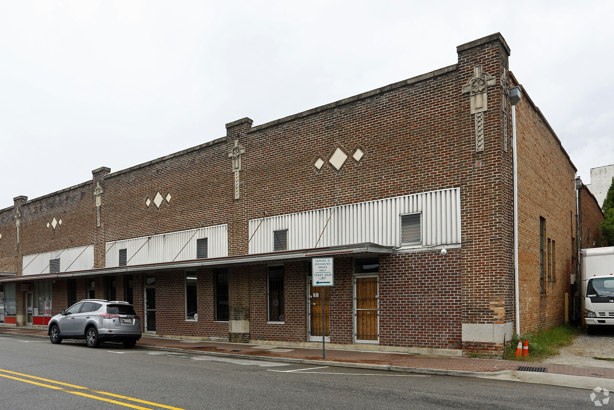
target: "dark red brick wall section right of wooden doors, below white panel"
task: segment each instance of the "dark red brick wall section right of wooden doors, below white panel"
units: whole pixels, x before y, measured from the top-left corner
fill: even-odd
[[[380,257],[380,344],[459,349],[461,266],[460,249]]]

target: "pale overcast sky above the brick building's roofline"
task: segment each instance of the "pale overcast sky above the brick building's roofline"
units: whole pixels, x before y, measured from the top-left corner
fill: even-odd
[[[588,183],[614,164],[613,4],[0,0],[0,208],[449,66],[497,31]]]

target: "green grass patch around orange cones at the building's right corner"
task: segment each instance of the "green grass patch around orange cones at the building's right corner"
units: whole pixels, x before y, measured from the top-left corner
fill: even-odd
[[[526,335],[513,335],[511,342],[507,345],[505,359],[523,360],[534,362],[546,356],[559,353],[559,348],[572,344],[573,338],[580,335],[582,329],[564,324],[544,330],[543,332],[527,333]],[[526,357],[516,357],[516,347],[518,341],[529,341],[529,355]]]

